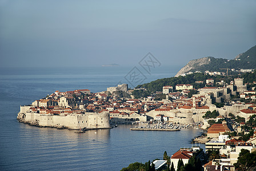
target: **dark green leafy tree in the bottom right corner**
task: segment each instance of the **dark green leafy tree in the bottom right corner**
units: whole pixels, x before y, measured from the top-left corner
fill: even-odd
[[[256,152],[250,153],[247,149],[241,149],[237,162],[234,164],[235,168],[239,170],[250,170],[256,165]]]

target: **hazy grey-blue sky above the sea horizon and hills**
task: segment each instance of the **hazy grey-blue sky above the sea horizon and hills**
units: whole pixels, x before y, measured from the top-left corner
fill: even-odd
[[[164,65],[256,45],[256,1],[2,1],[0,67]]]

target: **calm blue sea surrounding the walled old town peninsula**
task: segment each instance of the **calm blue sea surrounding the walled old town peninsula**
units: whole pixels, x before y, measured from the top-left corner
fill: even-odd
[[[162,159],[165,151],[171,156],[179,148],[195,146],[190,140],[202,133],[200,129],[130,131],[134,125],[118,125],[77,134],[17,121],[20,105],[57,90],[101,92],[122,83],[134,88],[174,76],[181,67],[0,68],[0,170],[121,170],[133,162]]]

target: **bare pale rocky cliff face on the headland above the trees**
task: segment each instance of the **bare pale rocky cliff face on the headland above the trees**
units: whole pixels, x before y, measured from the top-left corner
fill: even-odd
[[[209,64],[210,61],[211,61],[211,59],[209,57],[190,60],[190,62],[187,63],[185,67],[183,67],[183,68],[181,68],[181,70],[179,70],[179,72],[175,75],[175,77],[185,74],[191,70],[194,70],[194,69],[198,68],[199,66]]]

